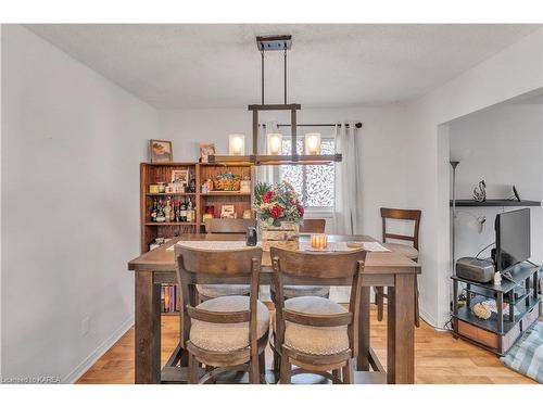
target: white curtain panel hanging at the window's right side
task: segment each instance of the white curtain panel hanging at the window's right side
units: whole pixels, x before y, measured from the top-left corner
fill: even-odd
[[[336,152],[342,154],[342,161],[336,163],[336,201],[334,225],[338,234],[356,234],[359,225],[359,169],[358,143],[356,142],[354,122],[336,126]]]

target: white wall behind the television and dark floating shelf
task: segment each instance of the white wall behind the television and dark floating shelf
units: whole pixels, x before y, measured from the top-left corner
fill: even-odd
[[[504,104],[473,113],[450,124],[453,155],[465,158],[456,171],[457,199],[471,199],[479,180],[488,199],[506,199],[515,185],[522,200],[542,200],[543,117],[539,104]],[[456,219],[456,257],[473,256],[495,241],[496,214],[515,207],[459,207]],[[541,207],[531,207],[532,262],[543,260]],[[485,216],[480,232],[475,220]],[[482,253],[490,255],[490,249]]]

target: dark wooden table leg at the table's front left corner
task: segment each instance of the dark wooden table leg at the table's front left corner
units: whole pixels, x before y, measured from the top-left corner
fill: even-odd
[[[136,279],[136,383],[161,382],[161,285],[152,271]]]

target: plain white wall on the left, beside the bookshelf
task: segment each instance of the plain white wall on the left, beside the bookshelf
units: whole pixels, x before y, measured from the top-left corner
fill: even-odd
[[[2,376],[70,382],[134,320],[126,262],[156,114],[4,25],[2,119]]]

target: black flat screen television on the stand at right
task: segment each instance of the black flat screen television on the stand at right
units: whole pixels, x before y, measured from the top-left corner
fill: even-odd
[[[530,209],[496,215],[496,270],[504,271],[530,258]]]

